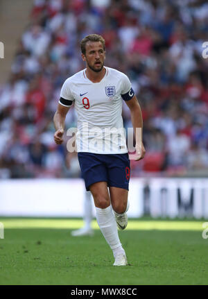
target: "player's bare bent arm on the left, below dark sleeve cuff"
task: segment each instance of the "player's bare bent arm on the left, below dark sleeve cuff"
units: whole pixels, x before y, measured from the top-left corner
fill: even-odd
[[[63,142],[62,137],[64,135],[65,119],[69,109],[70,107],[66,107],[58,103],[58,108],[53,117],[53,123],[55,126],[54,140],[56,144],[62,144]]]

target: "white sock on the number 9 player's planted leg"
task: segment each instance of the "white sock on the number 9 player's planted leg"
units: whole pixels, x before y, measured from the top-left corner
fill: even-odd
[[[116,226],[114,214],[111,205],[105,209],[96,207],[96,219],[101,228],[101,232],[109,244],[110,248],[114,251],[116,248],[122,250],[119,234]]]

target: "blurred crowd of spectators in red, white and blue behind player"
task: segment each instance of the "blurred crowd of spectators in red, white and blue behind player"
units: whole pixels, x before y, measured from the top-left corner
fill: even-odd
[[[207,32],[204,0],[34,0],[0,89],[0,178],[80,176],[69,137],[53,141],[53,114],[64,80],[85,68],[79,43],[90,33],[105,38],[105,65],[128,75],[141,105],[146,157],[131,161],[132,176],[208,173]],[[123,121],[132,127],[125,103]]]

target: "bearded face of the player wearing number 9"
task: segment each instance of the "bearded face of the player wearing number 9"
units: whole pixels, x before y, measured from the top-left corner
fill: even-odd
[[[89,69],[92,71],[101,71],[105,61],[105,51],[101,42],[87,42],[85,45],[86,53],[82,54],[83,60],[86,61]]]

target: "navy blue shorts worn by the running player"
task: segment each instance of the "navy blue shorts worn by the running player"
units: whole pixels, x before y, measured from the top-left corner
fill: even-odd
[[[107,182],[108,187],[119,187],[128,190],[130,180],[130,160],[128,153],[121,154],[97,154],[78,153],[82,178],[85,187],[94,182]]]

